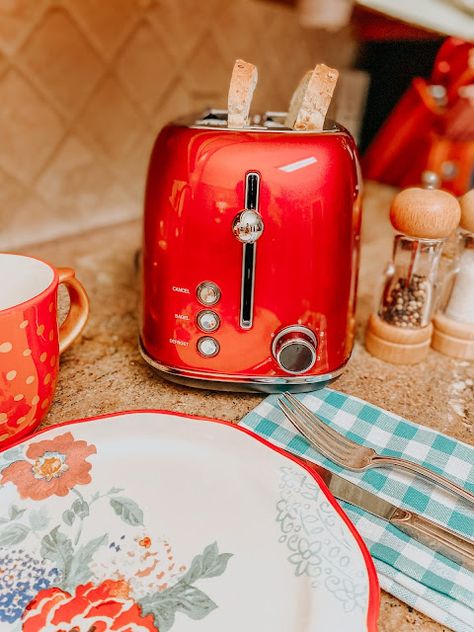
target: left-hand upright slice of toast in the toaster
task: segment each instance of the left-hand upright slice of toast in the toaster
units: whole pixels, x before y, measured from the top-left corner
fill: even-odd
[[[256,66],[242,59],[236,60],[227,99],[228,127],[242,128],[247,125],[257,79]]]

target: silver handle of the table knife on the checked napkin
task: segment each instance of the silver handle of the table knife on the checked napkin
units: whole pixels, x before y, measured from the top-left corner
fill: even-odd
[[[390,523],[428,548],[474,571],[472,540],[404,509],[397,509]]]

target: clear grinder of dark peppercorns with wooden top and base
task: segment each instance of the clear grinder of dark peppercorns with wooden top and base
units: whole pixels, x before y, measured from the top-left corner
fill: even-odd
[[[398,234],[365,344],[372,355],[392,364],[416,364],[430,347],[441,251],[461,214],[457,199],[436,189],[438,182],[436,174],[425,172],[423,188],[401,191],[390,209]]]

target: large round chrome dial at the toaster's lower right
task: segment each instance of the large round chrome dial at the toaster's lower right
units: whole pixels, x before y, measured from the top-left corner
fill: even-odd
[[[291,325],[277,333],[273,340],[273,357],[287,373],[298,375],[309,371],[316,362],[318,339],[307,327]]]

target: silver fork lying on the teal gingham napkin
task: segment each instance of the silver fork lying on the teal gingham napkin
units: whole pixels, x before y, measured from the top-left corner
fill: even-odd
[[[373,467],[393,466],[419,474],[453,494],[474,504],[474,494],[463,489],[441,474],[413,463],[407,459],[382,456],[372,448],[359,445],[347,439],[328,426],[324,421],[304,406],[291,393],[283,393],[278,404],[288,420],[305,437],[309,444],[322,455],[341,467],[354,472],[363,472]]]

